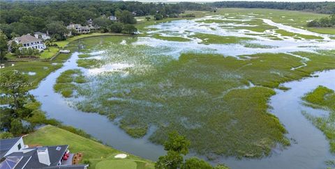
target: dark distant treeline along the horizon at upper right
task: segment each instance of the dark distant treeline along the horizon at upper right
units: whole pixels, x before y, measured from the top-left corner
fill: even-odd
[[[280,10],[304,10],[313,13],[335,13],[335,2],[269,2],[269,1],[221,1],[209,3],[216,8],[269,8]]]

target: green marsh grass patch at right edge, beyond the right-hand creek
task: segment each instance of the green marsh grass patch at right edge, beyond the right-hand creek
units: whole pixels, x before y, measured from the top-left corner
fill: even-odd
[[[322,108],[329,111],[326,116],[314,116],[308,112],[302,112],[308,120],[311,120],[315,127],[318,127],[329,140],[330,152],[335,154],[335,92],[325,86],[318,86],[315,90],[306,93],[302,97],[306,105],[313,108]]]

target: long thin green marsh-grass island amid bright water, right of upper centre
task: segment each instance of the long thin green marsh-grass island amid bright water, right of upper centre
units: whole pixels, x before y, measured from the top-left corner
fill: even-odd
[[[230,44],[239,43],[246,40],[254,40],[253,38],[220,36],[206,33],[196,33],[195,35],[191,35],[191,38],[200,38],[204,44]]]

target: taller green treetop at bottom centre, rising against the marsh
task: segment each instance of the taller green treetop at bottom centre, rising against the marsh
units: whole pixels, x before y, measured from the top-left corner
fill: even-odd
[[[179,152],[181,154],[188,154],[188,146],[191,142],[185,136],[181,136],[177,131],[172,131],[169,138],[164,143],[164,150]]]

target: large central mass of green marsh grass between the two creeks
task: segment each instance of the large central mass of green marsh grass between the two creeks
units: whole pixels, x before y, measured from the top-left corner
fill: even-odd
[[[75,84],[76,95],[89,98],[74,101],[75,106],[106,115],[134,138],[155,126],[149,136],[154,143],[163,143],[166,133],[178,130],[192,140],[192,149],[200,154],[259,158],[271,154],[278,144],[290,145],[281,122],[267,111],[273,88],[288,90],[280,83],[335,67],[332,54],[328,54],[331,51],[295,53],[311,61],[301,70],[291,70],[303,65],[301,58],[279,53],[237,59],[189,52],[173,59],[163,55],[170,48],[131,45],[135,41],[105,37],[80,42],[105,51],[103,64],[134,67],[126,69],[126,76],[124,72],[105,72],[90,77],[91,85]],[[100,66],[90,66],[94,64]]]

